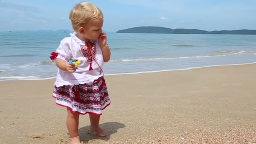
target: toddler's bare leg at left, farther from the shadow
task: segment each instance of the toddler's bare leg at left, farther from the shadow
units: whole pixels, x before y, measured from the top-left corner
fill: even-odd
[[[67,129],[69,131],[71,144],[80,144],[78,135],[79,114],[67,109]]]

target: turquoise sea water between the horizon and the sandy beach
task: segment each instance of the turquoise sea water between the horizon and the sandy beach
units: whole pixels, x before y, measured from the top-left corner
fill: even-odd
[[[49,59],[69,33],[0,32],[0,80],[55,77]],[[189,69],[256,62],[256,35],[108,33],[111,61],[104,74]]]

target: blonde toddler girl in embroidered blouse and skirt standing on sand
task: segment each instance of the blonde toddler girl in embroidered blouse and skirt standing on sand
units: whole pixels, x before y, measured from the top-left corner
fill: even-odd
[[[71,144],[80,144],[79,115],[89,114],[91,131],[107,136],[100,127],[102,110],[110,104],[102,66],[110,59],[107,35],[102,33],[103,13],[96,5],[81,2],[72,8],[69,19],[74,33],[61,40],[50,58],[59,68],[54,83],[56,104],[67,108],[67,129]],[[69,64],[70,59],[80,61]]]

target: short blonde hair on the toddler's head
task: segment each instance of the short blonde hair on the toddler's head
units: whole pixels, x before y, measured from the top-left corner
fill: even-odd
[[[103,13],[93,3],[83,1],[72,8],[69,19],[71,20],[73,29],[77,30],[90,20],[103,19]]]

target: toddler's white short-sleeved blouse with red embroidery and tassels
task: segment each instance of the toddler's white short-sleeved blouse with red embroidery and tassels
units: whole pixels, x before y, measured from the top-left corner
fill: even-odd
[[[66,61],[77,59],[81,61],[81,64],[76,66],[77,70],[73,73],[58,69],[54,83],[56,87],[84,83],[91,84],[94,80],[103,76],[102,66],[104,61],[98,40],[91,41],[93,43],[92,48],[88,49],[85,41],[80,40],[75,32],[70,36],[61,40],[56,50],[56,53],[58,53],[56,59]],[[90,69],[90,66],[92,69]]]

